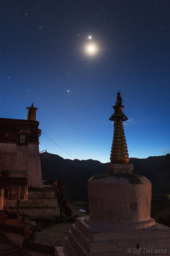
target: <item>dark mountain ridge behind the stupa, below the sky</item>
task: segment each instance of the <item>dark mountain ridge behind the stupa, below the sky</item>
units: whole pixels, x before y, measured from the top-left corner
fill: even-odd
[[[60,156],[43,153],[41,168],[44,180],[61,180],[66,187],[69,200],[87,201],[87,181],[92,175],[107,173],[107,163],[89,160],[69,160]],[[170,195],[170,155],[131,158],[134,172],[144,175],[152,182],[153,195]]]

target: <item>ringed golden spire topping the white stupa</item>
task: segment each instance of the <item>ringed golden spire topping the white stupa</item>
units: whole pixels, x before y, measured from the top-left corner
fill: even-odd
[[[129,155],[127,151],[127,143],[125,140],[125,132],[123,121],[127,120],[127,116],[123,113],[122,97],[120,92],[117,93],[117,102],[115,102],[115,113],[110,117],[114,121],[113,143],[111,147],[110,161],[111,163],[129,163]]]

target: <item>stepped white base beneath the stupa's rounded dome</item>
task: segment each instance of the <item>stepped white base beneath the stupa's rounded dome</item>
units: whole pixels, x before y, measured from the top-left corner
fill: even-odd
[[[152,219],[151,219],[152,220]],[[130,223],[129,223],[130,224]],[[133,225],[134,223],[132,223]],[[57,256],[170,255],[170,228],[159,223],[134,230],[92,225],[77,218]]]

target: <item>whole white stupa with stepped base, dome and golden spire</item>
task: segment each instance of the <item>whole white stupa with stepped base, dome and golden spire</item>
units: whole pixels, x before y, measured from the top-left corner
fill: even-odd
[[[58,256],[170,255],[170,228],[150,218],[152,184],[132,174],[122,122],[122,98],[117,94],[111,163],[108,174],[88,182],[89,216],[77,218]]]

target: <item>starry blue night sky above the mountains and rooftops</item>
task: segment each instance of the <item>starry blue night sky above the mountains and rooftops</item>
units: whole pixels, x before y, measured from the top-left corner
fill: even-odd
[[[1,0],[0,12],[1,117],[26,119],[33,102],[39,150],[110,161],[120,90],[129,156],[170,152],[168,0]]]

